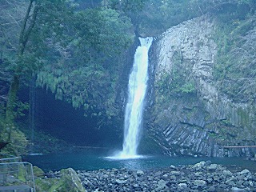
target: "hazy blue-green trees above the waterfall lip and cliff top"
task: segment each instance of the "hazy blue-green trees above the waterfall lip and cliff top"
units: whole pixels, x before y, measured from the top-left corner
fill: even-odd
[[[126,5],[126,4],[129,5]],[[110,1],[110,7],[122,10],[132,18],[138,34],[154,36],[170,26],[178,25],[202,14],[218,15],[229,21],[231,18],[244,18],[245,13],[253,14],[254,0],[148,0],[148,1]],[[129,10],[129,7],[134,7]]]

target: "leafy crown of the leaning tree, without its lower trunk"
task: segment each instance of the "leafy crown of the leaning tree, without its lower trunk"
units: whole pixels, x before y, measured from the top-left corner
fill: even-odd
[[[30,2],[32,6],[29,9]],[[15,4],[17,6],[14,6]],[[15,71],[18,76],[30,78],[31,73],[42,67],[42,58],[46,59],[50,44],[58,42],[65,46],[68,38],[63,35],[67,30],[66,23],[70,22],[72,10],[64,0],[10,0],[10,4],[4,3],[2,6],[1,58],[10,61],[8,68]],[[28,18],[25,17],[26,11],[30,14]]]

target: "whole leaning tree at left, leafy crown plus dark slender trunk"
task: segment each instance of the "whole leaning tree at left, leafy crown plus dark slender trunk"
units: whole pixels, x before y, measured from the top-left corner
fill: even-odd
[[[65,0],[5,0],[2,5],[0,26],[2,32],[1,61],[12,75],[1,127],[1,139],[6,139],[15,129],[17,93],[20,82],[29,80],[42,64],[50,59],[47,50],[61,42],[66,23],[72,15],[70,4]],[[14,14],[16,12],[19,14]],[[21,17],[22,15],[22,17]],[[12,33],[10,36],[10,31]],[[18,32],[19,31],[19,32]],[[67,40],[65,38],[65,40]],[[56,48],[56,47],[54,47]],[[8,82],[6,83],[8,85]]]

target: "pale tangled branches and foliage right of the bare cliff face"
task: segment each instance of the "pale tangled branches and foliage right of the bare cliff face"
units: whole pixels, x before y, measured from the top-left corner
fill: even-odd
[[[219,90],[234,102],[252,100],[256,90],[255,78],[255,16],[247,11],[249,6],[240,2],[230,13],[218,14],[215,42],[218,43],[218,59],[214,66],[214,78],[220,84]]]

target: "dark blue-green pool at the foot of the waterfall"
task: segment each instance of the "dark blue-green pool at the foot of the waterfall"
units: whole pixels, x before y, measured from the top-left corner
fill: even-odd
[[[98,170],[111,168],[127,168],[130,170],[161,169],[170,165],[181,166],[210,160],[212,163],[227,167],[241,167],[256,171],[256,162],[243,158],[192,158],[144,155],[136,159],[112,159],[106,150],[79,150],[63,154],[28,155],[24,161],[33,163],[42,170],[61,170],[71,167],[74,170]]]

